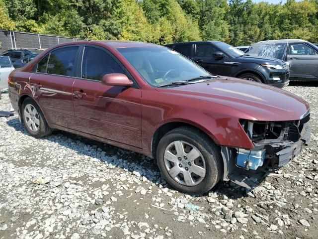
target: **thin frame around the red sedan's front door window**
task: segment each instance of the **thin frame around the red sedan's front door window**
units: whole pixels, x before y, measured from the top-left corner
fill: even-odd
[[[78,69],[77,69],[77,74],[76,74],[76,78],[80,79],[80,80],[85,80],[85,81],[94,81],[94,82],[100,82],[99,80],[95,80],[95,79],[86,79],[86,78],[82,78],[81,77],[81,71],[82,71],[82,63],[83,63],[83,58],[84,58],[84,51],[85,51],[85,47],[94,47],[97,49],[100,49],[104,52],[106,52],[108,55],[110,55],[110,57],[112,57],[117,63],[118,65],[124,70],[124,74],[128,77],[128,79],[130,79],[134,84],[132,85],[132,88],[136,88],[136,89],[140,89],[140,86],[138,85],[137,81],[133,78],[133,76],[130,74],[130,72],[127,70],[127,68],[118,60],[118,58],[112,53],[110,52],[108,49],[106,49],[105,47],[102,46],[98,46],[98,45],[92,45],[92,44],[82,44],[81,49],[79,50],[79,58],[78,58]]]

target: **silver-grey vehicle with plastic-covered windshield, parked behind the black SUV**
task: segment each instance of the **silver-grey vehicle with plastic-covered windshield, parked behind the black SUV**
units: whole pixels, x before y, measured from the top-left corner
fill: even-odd
[[[247,53],[288,61],[292,81],[318,81],[318,46],[311,42],[300,39],[260,41],[252,44]]]

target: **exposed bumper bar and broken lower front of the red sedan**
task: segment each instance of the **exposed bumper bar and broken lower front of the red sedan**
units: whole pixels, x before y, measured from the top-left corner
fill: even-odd
[[[248,167],[239,167],[236,164],[238,152],[235,148],[222,147],[221,153],[224,160],[223,180],[231,180],[242,187],[252,189],[256,187],[257,181],[269,173],[274,172],[289,163],[299,155],[304,146],[310,142],[311,126],[304,123],[298,140],[289,140],[283,137],[278,139],[265,139],[255,144],[256,150],[265,149],[264,163],[256,170]]]

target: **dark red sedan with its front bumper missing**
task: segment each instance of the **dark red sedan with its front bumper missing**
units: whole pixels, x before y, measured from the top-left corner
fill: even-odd
[[[309,105],[274,87],[213,75],[166,47],[73,42],[9,78],[9,98],[35,137],[60,129],[155,158],[186,193],[220,180],[252,187],[308,144]]]

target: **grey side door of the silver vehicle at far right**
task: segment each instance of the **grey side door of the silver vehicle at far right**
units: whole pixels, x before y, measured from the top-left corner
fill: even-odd
[[[318,52],[306,43],[289,43],[290,79],[318,80]]]

